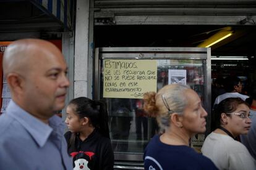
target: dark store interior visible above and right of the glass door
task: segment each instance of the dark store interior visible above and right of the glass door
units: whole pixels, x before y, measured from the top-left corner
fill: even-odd
[[[246,86],[256,80],[256,26],[250,18],[239,26],[100,25],[94,29],[95,47],[206,47],[204,42],[220,39],[226,32],[228,37],[210,46],[211,79],[235,75]]]

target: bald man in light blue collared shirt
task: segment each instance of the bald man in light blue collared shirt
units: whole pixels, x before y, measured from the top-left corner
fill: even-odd
[[[67,65],[51,42],[12,42],[3,59],[12,100],[0,116],[0,169],[72,169],[56,116],[69,87]]]

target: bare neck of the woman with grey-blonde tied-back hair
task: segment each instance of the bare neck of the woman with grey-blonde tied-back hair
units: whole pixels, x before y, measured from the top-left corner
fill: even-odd
[[[187,145],[189,146],[190,136],[186,132],[181,131],[181,128],[174,128],[166,130],[163,135],[161,135],[160,140],[164,144],[168,145]]]

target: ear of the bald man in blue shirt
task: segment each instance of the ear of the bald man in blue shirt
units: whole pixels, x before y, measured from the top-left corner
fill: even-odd
[[[6,81],[9,84],[11,91],[18,93],[22,92],[22,78],[17,73],[9,73]]]

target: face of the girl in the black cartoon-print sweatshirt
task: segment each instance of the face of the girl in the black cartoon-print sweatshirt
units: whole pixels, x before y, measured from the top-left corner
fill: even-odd
[[[75,113],[75,106],[68,105],[66,109],[67,118],[65,123],[71,132],[80,132],[82,130],[83,119],[80,119],[77,113]]]

